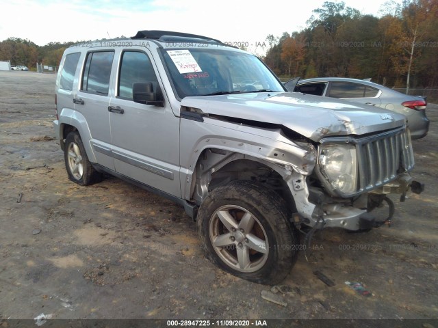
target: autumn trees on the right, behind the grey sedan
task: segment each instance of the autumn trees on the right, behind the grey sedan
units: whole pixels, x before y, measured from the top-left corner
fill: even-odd
[[[264,61],[281,77],[352,77],[391,87],[438,86],[438,0],[385,3],[380,18],[324,2],[307,27],[268,35]]]

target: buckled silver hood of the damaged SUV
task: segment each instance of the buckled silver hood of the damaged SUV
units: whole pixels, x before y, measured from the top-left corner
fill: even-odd
[[[364,135],[406,122],[393,111],[297,92],[186,97],[181,105],[208,114],[280,124],[313,141],[333,135]]]

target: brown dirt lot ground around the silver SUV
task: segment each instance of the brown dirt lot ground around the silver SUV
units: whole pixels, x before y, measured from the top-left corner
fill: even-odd
[[[426,191],[396,202],[391,228],[316,234],[309,261],[300,254],[276,293],[281,306],[262,299],[270,286],[216,269],[182,208],[116,178],[91,187],[70,182],[53,140],[54,85],[53,74],[0,72],[0,323],[42,313],[438,318],[437,105],[428,107],[429,135],[413,141],[413,176]],[[361,282],[372,295],[345,282]]]

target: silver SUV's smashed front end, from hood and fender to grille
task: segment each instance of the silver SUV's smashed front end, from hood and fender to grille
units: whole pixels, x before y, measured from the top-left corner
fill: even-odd
[[[220,184],[252,180],[290,201],[297,227],[361,230],[379,224],[370,211],[391,206],[389,193],[404,200],[410,188],[422,191],[409,176],[414,159],[403,115],[294,93],[188,97],[181,105],[183,117],[198,115],[199,127],[208,124],[201,142],[181,135],[182,144],[196,145],[182,163],[195,162],[185,154],[203,155],[188,165],[184,197],[196,204]],[[182,120],[181,131],[191,131],[185,124],[193,122]],[[265,178],[259,167],[281,181]]]

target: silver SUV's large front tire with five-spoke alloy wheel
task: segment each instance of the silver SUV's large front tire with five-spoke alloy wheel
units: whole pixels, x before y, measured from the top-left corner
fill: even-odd
[[[198,233],[218,267],[258,284],[278,284],[291,271],[298,232],[276,193],[248,180],[211,191],[198,210]]]

